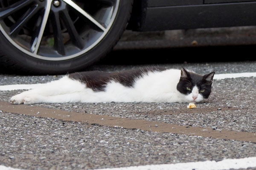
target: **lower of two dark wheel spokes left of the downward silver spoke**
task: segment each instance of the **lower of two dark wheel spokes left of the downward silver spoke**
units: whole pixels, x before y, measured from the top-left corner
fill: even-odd
[[[11,31],[9,35],[17,35],[21,28],[26,24],[32,16],[34,16],[38,12],[38,5],[33,6],[32,8],[29,8],[28,11],[26,11],[22,17],[11,27]]]

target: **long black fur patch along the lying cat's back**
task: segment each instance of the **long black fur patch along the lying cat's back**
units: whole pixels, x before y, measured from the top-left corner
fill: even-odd
[[[132,87],[134,85],[134,80],[137,77],[141,77],[143,74],[147,74],[148,72],[164,70],[166,70],[166,68],[148,67],[111,73],[103,71],[85,71],[70,74],[69,78],[86,83],[87,88],[91,88],[93,91],[104,91],[105,85],[111,80],[120,82],[122,85]]]

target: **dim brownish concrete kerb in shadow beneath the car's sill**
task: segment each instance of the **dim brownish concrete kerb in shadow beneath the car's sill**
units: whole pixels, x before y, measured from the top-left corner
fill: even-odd
[[[255,26],[136,32],[126,30],[114,50],[254,45]],[[195,42],[196,43],[193,43]]]

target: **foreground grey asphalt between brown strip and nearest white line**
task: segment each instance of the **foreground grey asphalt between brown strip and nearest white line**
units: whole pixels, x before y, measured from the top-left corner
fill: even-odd
[[[0,164],[38,170],[219,161],[256,153],[256,144],[250,142],[142,132],[12,113],[0,113],[0,147]]]

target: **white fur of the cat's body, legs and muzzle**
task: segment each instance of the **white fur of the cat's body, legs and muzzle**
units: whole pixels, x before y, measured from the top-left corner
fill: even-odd
[[[64,76],[46,83],[41,88],[17,94],[11,98],[11,102],[31,105],[65,102],[201,102],[203,100],[196,86],[189,95],[177,91],[179,79],[180,70],[154,71],[135,79],[134,87],[127,87],[112,80],[106,85],[105,91],[93,91],[87,88],[86,84]]]

